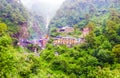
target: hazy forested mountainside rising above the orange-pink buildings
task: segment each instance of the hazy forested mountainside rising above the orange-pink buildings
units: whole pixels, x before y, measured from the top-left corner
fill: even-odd
[[[100,18],[96,21],[103,22],[108,18],[111,8],[120,10],[119,5],[119,0],[66,0],[57,11],[50,26],[62,27],[78,24],[82,28],[93,18]]]

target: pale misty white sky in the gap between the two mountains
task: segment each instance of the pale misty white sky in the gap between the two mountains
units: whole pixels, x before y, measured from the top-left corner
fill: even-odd
[[[28,8],[40,14],[53,16],[65,0],[21,0]]]

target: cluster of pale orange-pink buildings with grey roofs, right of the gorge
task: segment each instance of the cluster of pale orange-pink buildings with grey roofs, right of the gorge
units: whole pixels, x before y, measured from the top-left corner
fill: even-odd
[[[71,32],[74,31],[71,27],[64,27],[62,29],[59,29],[58,32]],[[80,44],[85,42],[85,36],[87,36],[90,32],[90,29],[88,27],[83,28],[82,30],[82,35],[80,38],[72,38],[72,37],[56,37],[54,38],[54,45],[75,45],[75,44]]]

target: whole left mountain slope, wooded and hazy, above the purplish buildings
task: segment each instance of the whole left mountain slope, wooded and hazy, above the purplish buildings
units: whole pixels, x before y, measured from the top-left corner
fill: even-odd
[[[31,37],[41,37],[45,33],[45,22],[42,16],[28,10],[21,0],[0,0],[0,20],[8,25],[15,36],[20,35],[20,29],[25,27]],[[37,30],[37,31],[36,31]]]

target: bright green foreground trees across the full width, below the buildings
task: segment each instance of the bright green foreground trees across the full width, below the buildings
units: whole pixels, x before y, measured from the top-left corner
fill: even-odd
[[[0,29],[1,78],[119,78],[120,77],[120,23],[111,16],[105,26],[89,23],[92,31],[84,44],[68,48],[48,44],[34,53],[19,52],[12,46],[7,26]],[[114,18],[114,19],[111,19]]]

